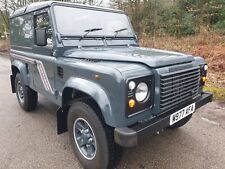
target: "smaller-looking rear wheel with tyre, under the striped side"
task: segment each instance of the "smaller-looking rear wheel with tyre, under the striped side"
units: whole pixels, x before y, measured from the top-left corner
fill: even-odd
[[[16,96],[20,106],[25,111],[32,111],[37,106],[38,95],[33,89],[25,86],[20,73],[15,78]]]

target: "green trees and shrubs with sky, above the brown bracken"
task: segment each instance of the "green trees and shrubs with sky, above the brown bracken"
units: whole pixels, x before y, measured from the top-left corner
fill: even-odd
[[[24,5],[43,0],[0,0],[0,32],[9,29],[8,15]],[[122,9],[139,36],[176,36],[201,33],[202,29],[225,34],[224,0],[62,0]]]

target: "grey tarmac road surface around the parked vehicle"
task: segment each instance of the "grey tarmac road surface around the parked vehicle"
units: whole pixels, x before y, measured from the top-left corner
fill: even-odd
[[[0,56],[0,169],[79,169],[68,133],[56,134],[57,109],[39,97],[37,110],[23,112],[11,93],[10,63]],[[146,138],[124,149],[118,169],[223,169],[225,104],[201,108],[178,130]]]

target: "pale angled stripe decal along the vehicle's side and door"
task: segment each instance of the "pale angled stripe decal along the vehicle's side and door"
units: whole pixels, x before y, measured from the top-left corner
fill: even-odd
[[[45,68],[43,63],[40,60],[36,59],[31,59],[25,56],[17,55],[17,54],[11,54],[11,57],[19,60],[23,60],[25,62],[31,63],[31,64],[36,64],[38,73],[40,74],[41,81],[44,85],[44,88],[46,91],[50,92],[51,94],[54,94],[54,91],[52,90],[51,84],[49,82],[48,76],[46,74]]]

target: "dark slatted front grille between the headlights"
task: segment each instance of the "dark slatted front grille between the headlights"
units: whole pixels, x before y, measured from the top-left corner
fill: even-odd
[[[161,112],[192,100],[199,93],[200,69],[163,74],[160,76],[160,110]]]

